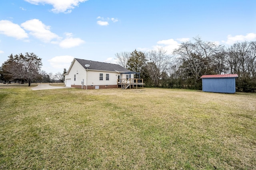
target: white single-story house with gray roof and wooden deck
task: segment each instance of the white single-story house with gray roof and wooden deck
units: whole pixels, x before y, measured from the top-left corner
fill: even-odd
[[[82,89],[127,88],[134,80],[135,72],[111,63],[74,59],[65,75],[65,86]],[[125,85],[126,84],[126,85]],[[134,87],[134,84],[132,84]],[[132,86],[130,84],[130,87]],[[137,86],[136,86],[137,87]]]

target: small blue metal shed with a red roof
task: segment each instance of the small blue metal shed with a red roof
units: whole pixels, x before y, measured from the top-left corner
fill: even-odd
[[[237,74],[203,75],[203,92],[235,93]]]

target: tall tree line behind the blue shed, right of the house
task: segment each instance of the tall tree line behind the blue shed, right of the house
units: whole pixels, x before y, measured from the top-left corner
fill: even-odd
[[[158,48],[115,55],[118,64],[140,72],[147,87],[202,90],[202,75],[238,74],[237,91],[256,92],[256,41],[225,47],[195,37],[193,41],[181,43],[172,54]]]

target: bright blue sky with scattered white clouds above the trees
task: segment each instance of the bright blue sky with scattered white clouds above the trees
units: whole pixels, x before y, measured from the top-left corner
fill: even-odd
[[[256,41],[256,0],[1,0],[0,65],[35,53],[42,70],[74,58],[116,63],[116,53],[172,53],[193,37],[230,45]]]

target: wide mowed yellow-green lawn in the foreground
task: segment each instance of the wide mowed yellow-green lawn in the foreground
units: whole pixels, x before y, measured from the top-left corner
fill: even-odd
[[[256,169],[256,94],[0,86],[0,169]]]

